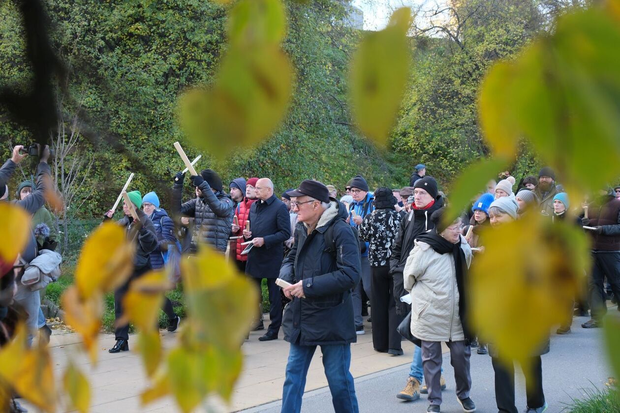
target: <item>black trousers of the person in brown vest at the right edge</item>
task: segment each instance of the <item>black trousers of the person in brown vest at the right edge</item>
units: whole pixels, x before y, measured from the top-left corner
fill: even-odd
[[[592,318],[600,320],[607,313],[605,304],[604,277],[607,276],[611,290],[620,297],[620,253],[593,253],[594,265],[588,283],[590,311]]]

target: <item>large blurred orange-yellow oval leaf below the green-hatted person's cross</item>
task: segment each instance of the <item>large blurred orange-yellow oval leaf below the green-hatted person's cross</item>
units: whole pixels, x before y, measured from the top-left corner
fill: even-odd
[[[119,225],[105,222],[92,232],[82,246],[74,274],[80,297],[122,285],[133,270],[134,253],[135,243],[126,240]]]

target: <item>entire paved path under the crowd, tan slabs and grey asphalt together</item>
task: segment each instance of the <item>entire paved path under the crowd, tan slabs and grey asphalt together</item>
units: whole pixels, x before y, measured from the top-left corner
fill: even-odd
[[[613,309],[615,310],[615,306]],[[601,329],[582,329],[580,323],[587,318],[575,318],[573,332],[566,336],[551,339],[551,352],[544,355],[544,388],[550,408],[547,412],[560,412],[572,398],[581,398],[584,388],[601,388],[611,372],[603,348]],[[268,320],[265,320],[268,325]],[[231,404],[226,405],[217,398],[208,399],[198,411],[210,412],[280,412],[282,385],[284,383],[288,343],[281,339],[259,342],[264,331],[250,333],[250,340],[243,344],[244,369],[236,383]],[[178,334],[161,331],[162,344],[166,348],[174,346]],[[133,351],[110,354],[107,352],[115,340],[110,334],[102,334],[99,341],[99,362],[92,365],[80,349],[80,337],[74,333],[55,331],[51,336],[50,347],[56,383],[60,386],[61,374],[69,360],[73,360],[87,375],[91,385],[91,412],[177,412],[175,401],[164,398],[141,406],[139,394],[148,386],[139,355]],[[130,349],[135,339],[130,337]],[[413,344],[403,342],[405,354],[391,356],[373,350],[370,325],[366,323],[366,334],[358,336],[352,345],[351,372],[355,378],[355,388],[360,412],[425,412],[425,396],[415,402],[396,399],[405,385],[409,363],[412,359]],[[447,350],[444,347],[444,350]],[[448,389],[443,393],[442,412],[461,412],[454,395],[453,370],[449,365],[449,354],[444,354],[445,376]],[[472,392],[479,412],[492,412],[495,409],[493,369],[488,355],[472,354],[471,360]],[[519,409],[525,407],[523,375],[516,375],[517,400]],[[312,360],[302,412],[333,412],[327,380],[323,372],[321,353],[318,351]],[[36,409],[30,407],[31,412]],[[58,411],[68,411],[61,405]]]

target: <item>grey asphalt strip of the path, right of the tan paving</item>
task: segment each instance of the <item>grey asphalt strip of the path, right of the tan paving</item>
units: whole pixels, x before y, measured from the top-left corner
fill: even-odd
[[[616,311],[616,306],[609,308]],[[611,368],[602,340],[601,329],[583,329],[581,323],[587,317],[573,318],[572,333],[565,336],[551,336],[551,351],[542,356],[542,376],[549,409],[547,413],[568,411],[567,405],[573,398],[582,398],[584,388],[603,388],[611,376]],[[408,344],[412,346],[412,344]],[[410,352],[409,352],[410,354]],[[314,357],[319,357],[320,352]],[[454,376],[449,363],[449,354],[443,356],[443,366],[448,388],[443,392],[442,412],[462,412],[454,394]],[[414,402],[396,399],[409,373],[408,366],[394,367],[355,379],[355,389],[362,413],[378,412],[425,412],[426,396]],[[494,396],[494,374],[488,355],[472,354],[471,398],[476,402],[478,412],[497,412]],[[516,401],[520,411],[525,410],[525,381],[520,369],[516,369]],[[272,402],[247,409],[244,412],[280,412],[281,402]],[[304,395],[302,412],[333,412],[329,389],[322,388]]]

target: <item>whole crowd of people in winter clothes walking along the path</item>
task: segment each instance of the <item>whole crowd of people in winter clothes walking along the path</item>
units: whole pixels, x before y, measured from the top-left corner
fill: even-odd
[[[9,194],[7,181],[26,156],[21,149],[15,147],[0,169],[2,200]],[[24,267],[40,251],[55,250],[54,225],[43,206],[49,190],[44,179],[50,175],[47,159],[48,150],[42,150],[36,182],[20,184],[12,201],[32,215],[35,229],[17,263],[0,263],[0,345],[9,341],[19,311],[29,327],[30,341],[37,331],[47,340],[51,333],[40,310],[41,290],[21,282]],[[480,233],[530,214],[546,215],[553,222],[568,219],[587,228],[592,238],[595,264],[588,274],[588,294],[575,297],[574,309],[567,308],[567,315],[569,311],[590,315],[582,327],[599,327],[606,300],[617,303],[620,297],[620,186],[601,191],[590,201],[578,200],[587,201],[580,204],[570,202],[549,167],[518,185],[506,171],[498,181],[488,183],[471,209],[446,224],[442,216],[448,200],[423,164],[415,167],[410,186],[380,186],[371,191],[365,178],[356,175],[340,198],[335,186],[315,180],[304,180],[278,196],[270,178],[237,177],[225,187],[215,171],[205,169],[189,179],[193,193],[184,195],[185,174],[174,176],[170,215],[155,192],[144,196],[128,192],[131,205],[123,202],[123,217],[117,224],[136,243],[136,254],[130,279],[115,292],[117,319],[130,283],[149,269],[178,266],[200,245],[225,254],[255,281],[259,302],[263,301],[262,280],[266,280],[270,324],[259,341],[276,340],[283,329],[284,339],[290,342],[283,412],[301,411],[317,346],[335,411],[358,412],[350,344],[367,333],[364,318],[369,306],[374,350],[401,356],[404,338],[415,343],[409,376],[397,398],[415,401],[420,394],[428,394],[427,411],[440,411],[441,391],[446,388],[441,342],[446,342],[463,411],[476,411],[469,397],[470,357],[476,349],[492,357],[498,411],[516,412],[514,368],[500,360],[492,343],[479,341],[468,322],[467,273],[476,254],[484,253]],[[114,214],[107,211],[104,220]],[[179,282],[178,268],[169,272],[173,282]],[[177,331],[182,320],[170,300],[162,310],[169,320],[168,331]],[[262,313],[257,309],[255,330],[265,329]],[[570,333],[571,324],[572,316],[567,316],[556,333]],[[117,325],[115,339],[110,352],[129,349],[127,325]],[[548,351],[547,341],[529,360],[534,373],[528,378],[528,412],[547,409],[541,355]]]

